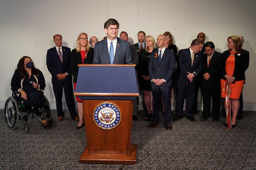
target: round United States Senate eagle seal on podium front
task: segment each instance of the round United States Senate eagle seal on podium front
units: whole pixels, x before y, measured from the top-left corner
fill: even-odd
[[[114,129],[122,120],[122,113],[117,105],[112,102],[103,102],[93,110],[93,121],[101,129]]]

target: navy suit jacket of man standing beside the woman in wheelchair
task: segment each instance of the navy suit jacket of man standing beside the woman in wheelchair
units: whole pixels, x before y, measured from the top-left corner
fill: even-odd
[[[63,63],[61,63],[55,46],[47,50],[46,65],[52,75],[52,84],[61,83],[63,81],[72,81],[72,75],[69,69],[69,53],[71,53],[70,48],[62,46]],[[68,73],[68,76],[64,80],[59,80],[57,78],[57,74],[59,73]]]

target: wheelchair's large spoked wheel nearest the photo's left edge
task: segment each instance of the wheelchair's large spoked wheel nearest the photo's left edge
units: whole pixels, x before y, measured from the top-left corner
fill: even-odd
[[[19,123],[19,106],[14,97],[9,97],[4,106],[4,116],[10,129],[16,129]]]

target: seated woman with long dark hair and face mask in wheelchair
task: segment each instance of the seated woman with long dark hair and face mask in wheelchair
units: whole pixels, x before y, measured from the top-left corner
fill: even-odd
[[[36,69],[33,61],[28,56],[21,57],[17,69],[12,76],[11,89],[13,92],[20,92],[19,98],[24,105],[33,106],[36,114],[41,116],[43,126],[48,122],[42,113],[44,109],[44,87],[45,80],[43,73]]]

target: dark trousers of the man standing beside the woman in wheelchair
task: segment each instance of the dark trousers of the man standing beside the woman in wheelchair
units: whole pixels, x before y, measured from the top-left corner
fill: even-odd
[[[74,100],[74,94],[73,94],[72,81],[52,84],[52,87],[53,87],[53,92],[54,92],[55,101],[56,101],[57,115],[59,117],[64,116],[64,112],[62,110],[62,93],[64,89],[65,99],[66,99],[69,114],[71,117],[76,117],[77,114],[76,114],[76,106],[75,106],[75,100]]]

